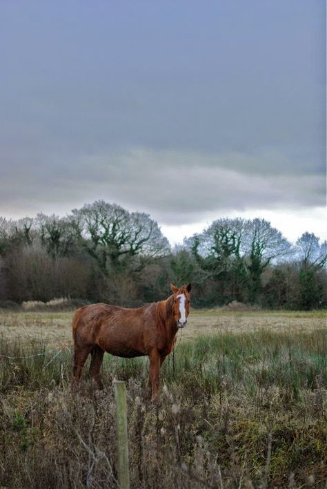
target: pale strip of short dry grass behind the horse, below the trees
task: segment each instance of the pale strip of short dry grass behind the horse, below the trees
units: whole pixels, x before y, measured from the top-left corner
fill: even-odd
[[[71,343],[74,311],[1,311],[0,335],[10,339],[37,338],[61,345]],[[224,311],[192,310],[181,341],[201,334],[245,333],[253,331],[308,332],[326,327],[326,311]]]

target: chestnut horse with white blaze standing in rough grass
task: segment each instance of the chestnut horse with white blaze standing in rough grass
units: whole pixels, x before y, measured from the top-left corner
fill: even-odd
[[[172,352],[177,331],[186,325],[190,312],[191,285],[170,287],[168,299],[137,309],[102,303],[77,309],[72,318],[75,385],[88,354],[92,356],[90,375],[100,388],[104,352],[126,358],[148,355],[152,400],[157,399],[160,367]]]

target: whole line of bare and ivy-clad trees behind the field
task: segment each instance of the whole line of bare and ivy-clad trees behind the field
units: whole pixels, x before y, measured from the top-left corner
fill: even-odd
[[[196,307],[327,307],[326,242],[292,245],[264,219],[219,219],[171,249],[157,222],[97,201],[66,218],[0,218],[0,305],[70,297],[137,306],[170,281],[192,282]]]

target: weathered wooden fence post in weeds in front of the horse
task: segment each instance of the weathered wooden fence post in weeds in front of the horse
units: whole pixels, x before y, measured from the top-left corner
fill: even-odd
[[[118,487],[119,489],[129,489],[126,385],[125,382],[117,381],[114,386],[117,419]]]

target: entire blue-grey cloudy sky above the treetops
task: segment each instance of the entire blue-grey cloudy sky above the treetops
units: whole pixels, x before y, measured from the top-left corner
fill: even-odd
[[[1,1],[0,215],[327,238],[325,26],[325,0]]]

